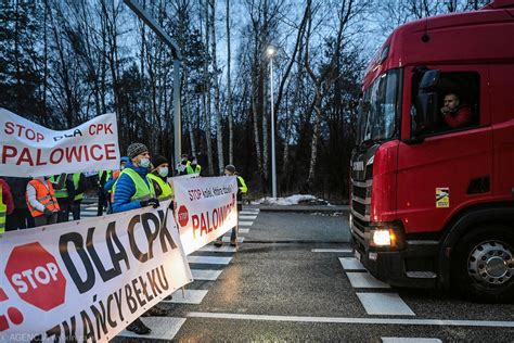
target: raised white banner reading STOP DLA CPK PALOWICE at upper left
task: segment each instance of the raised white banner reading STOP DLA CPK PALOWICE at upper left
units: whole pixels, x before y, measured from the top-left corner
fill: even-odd
[[[114,113],[54,131],[0,109],[0,175],[49,176],[118,168]]]

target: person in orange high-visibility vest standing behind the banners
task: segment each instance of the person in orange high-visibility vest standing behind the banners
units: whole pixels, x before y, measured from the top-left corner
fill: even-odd
[[[50,178],[39,176],[28,182],[25,200],[36,227],[57,223],[60,207]]]

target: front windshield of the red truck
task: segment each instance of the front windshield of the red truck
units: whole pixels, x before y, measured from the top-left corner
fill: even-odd
[[[373,143],[398,135],[400,69],[391,69],[364,91],[360,102],[358,141]]]

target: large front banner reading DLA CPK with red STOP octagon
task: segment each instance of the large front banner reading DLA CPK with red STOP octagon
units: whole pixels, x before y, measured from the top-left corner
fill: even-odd
[[[0,341],[105,342],[191,282],[168,205],[0,236]]]

